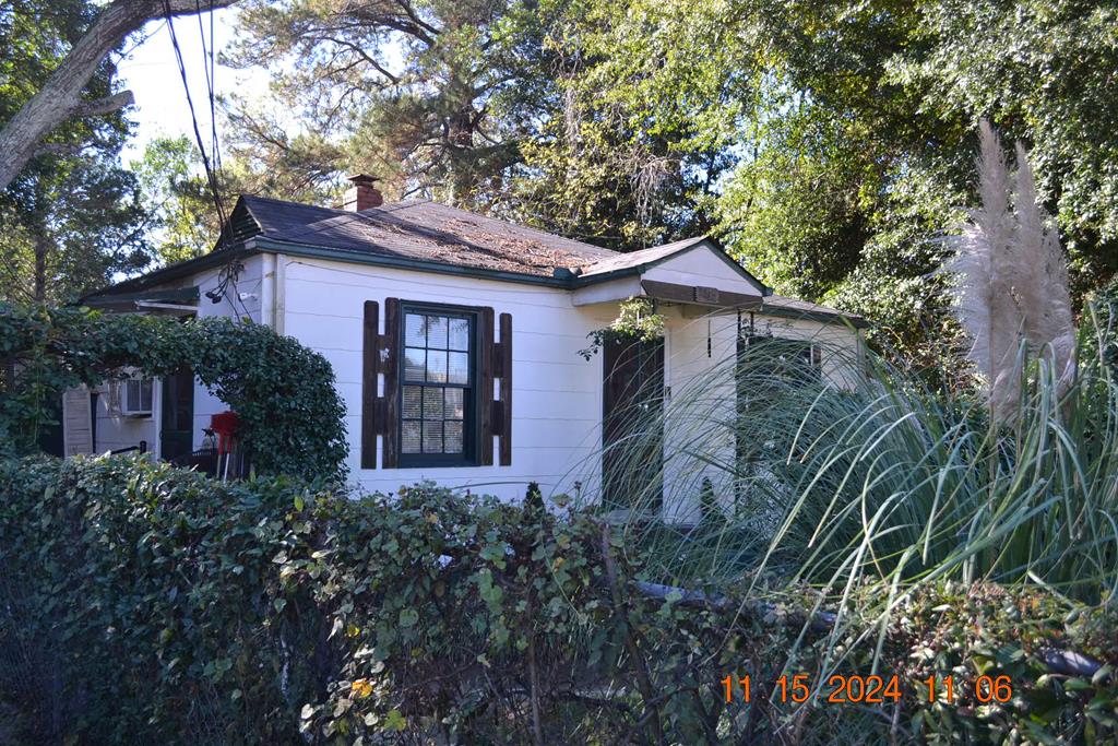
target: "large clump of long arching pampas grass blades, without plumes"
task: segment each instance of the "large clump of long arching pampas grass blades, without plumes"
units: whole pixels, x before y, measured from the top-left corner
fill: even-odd
[[[1030,362],[1023,346],[1013,417],[993,422],[983,398],[930,387],[880,355],[814,340],[821,376],[803,362],[803,341],[747,344],[675,387],[662,414],[634,419],[633,437],[662,438],[667,454],[665,489],[633,494],[634,540],[644,541],[639,517],[660,501],[698,522],[707,476],[731,520],[682,542],[648,537],[680,584],[776,570],[826,588],[877,586],[882,614],[892,594],[942,578],[1036,583],[1112,605],[1110,324],[1084,324],[1070,387],[1062,367]]]

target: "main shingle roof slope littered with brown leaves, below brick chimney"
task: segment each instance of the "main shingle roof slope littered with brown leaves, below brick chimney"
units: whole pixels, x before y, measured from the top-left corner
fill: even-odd
[[[361,254],[546,277],[559,267],[624,256],[428,200],[394,202],[360,213],[247,196],[240,205],[259,227],[258,235]]]

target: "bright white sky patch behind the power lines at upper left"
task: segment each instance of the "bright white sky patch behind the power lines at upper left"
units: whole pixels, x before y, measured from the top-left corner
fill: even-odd
[[[236,34],[235,8],[222,8],[212,13],[214,38],[216,51],[220,55]],[[202,142],[207,152],[210,142],[209,97],[203,66],[202,34],[205,32],[206,49],[210,45],[210,15],[201,15],[199,29],[198,16],[186,16],[174,19],[174,35],[182,50],[182,62],[187,69],[187,82],[190,85],[190,96],[195,102],[195,113],[198,126],[202,133]],[[131,48],[131,50],[129,50]],[[179,64],[176,60],[174,48],[171,45],[171,34],[165,21],[152,21],[143,29],[143,36],[131,39],[125,47],[125,57],[117,64],[117,78],[123,87],[135,95],[135,105],[129,111],[129,117],[136,122],[135,136],[125,147],[123,161],[138,160],[144,147],[153,139],[169,135],[187,135],[195,141],[191,126],[190,108],[183,91]],[[243,89],[263,89],[267,85],[267,74],[262,68],[238,70],[226,67],[218,60],[214,74],[217,95],[229,94],[238,87]],[[218,126],[220,128],[220,113]],[[218,130],[220,139],[221,131]]]

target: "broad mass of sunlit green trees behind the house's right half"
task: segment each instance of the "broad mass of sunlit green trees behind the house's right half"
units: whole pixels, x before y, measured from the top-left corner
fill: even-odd
[[[641,225],[609,236],[620,247],[709,230],[778,290],[864,313],[875,341],[942,371],[958,328],[931,273],[973,201],[986,116],[1031,149],[1077,299],[1118,270],[1109,4],[588,0],[567,23],[575,106],[524,148],[525,201],[570,216],[543,209],[544,225]],[[639,199],[634,145],[679,163]]]

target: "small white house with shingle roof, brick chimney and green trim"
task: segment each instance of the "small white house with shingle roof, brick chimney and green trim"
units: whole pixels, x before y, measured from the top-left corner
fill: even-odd
[[[530,481],[593,490],[629,376],[670,396],[733,355],[743,327],[859,347],[860,319],[773,294],[705,237],[622,254],[432,201],[381,204],[372,179],[353,182],[344,209],[241,197],[219,249],[86,302],[248,318],[321,352],[348,408],[351,479],[370,491],[425,479],[502,497]],[[641,360],[580,356],[635,296],[655,299],[663,343]],[[131,416],[119,394],[94,394],[92,407],[88,393],[66,397],[68,453],[144,441],[180,455],[225,408],[189,371],[155,381]]]

